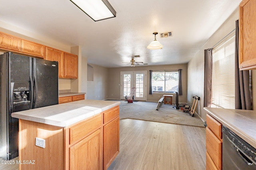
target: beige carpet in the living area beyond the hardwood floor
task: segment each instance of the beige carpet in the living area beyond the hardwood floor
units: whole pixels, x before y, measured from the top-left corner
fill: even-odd
[[[120,100],[120,102],[120,119],[139,119],[204,127],[204,122],[197,114],[192,117],[189,113],[173,108],[174,105],[162,104],[160,109],[156,110],[157,102],[128,103],[124,100]]]

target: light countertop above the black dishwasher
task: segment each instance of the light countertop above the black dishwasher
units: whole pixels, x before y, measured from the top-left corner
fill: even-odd
[[[217,121],[256,148],[256,111],[212,107],[204,107],[204,109]]]

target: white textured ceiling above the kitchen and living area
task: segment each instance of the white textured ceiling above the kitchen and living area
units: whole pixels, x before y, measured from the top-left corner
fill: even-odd
[[[0,0],[0,21],[65,45],[80,45],[82,57],[100,66],[129,66],[122,62],[134,55],[141,55],[135,60],[148,65],[179,64],[188,63],[241,2],[108,1],[116,17],[95,22],[70,0]],[[146,48],[154,40],[153,32],[168,31],[172,37],[156,37],[163,49]]]

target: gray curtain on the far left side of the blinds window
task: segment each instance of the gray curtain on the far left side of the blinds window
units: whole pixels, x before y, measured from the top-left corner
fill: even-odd
[[[212,99],[212,49],[204,50],[204,107],[211,107]]]

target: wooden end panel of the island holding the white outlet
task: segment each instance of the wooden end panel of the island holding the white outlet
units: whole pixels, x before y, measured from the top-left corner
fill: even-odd
[[[64,170],[64,128],[19,119],[20,170]],[[36,137],[45,148],[35,145]]]

